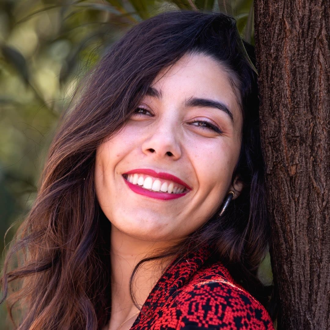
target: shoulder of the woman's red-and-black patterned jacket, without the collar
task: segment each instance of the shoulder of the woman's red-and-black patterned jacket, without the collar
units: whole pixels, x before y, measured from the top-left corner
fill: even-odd
[[[221,263],[200,269],[171,307],[177,329],[273,329],[265,308],[234,282]]]

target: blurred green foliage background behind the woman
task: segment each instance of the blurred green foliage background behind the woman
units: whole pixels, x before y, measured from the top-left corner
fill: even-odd
[[[1,251],[34,201],[54,130],[77,82],[131,26],[175,9],[228,13],[254,44],[252,0],[0,0]],[[259,274],[272,283],[269,256]],[[9,329],[6,314],[2,305],[1,330]]]

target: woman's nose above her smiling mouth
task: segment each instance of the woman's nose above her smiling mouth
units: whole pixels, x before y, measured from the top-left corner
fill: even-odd
[[[177,160],[181,157],[180,139],[171,125],[159,124],[149,128],[150,134],[142,144],[142,151],[146,155],[153,154],[157,158]]]

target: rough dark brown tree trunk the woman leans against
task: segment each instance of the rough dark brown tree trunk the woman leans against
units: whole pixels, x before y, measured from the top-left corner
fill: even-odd
[[[278,329],[330,329],[329,0],[256,0]]]

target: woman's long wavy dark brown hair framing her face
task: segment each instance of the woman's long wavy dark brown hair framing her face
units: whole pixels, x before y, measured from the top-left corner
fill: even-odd
[[[244,189],[224,216],[216,213],[163,255],[212,245],[234,278],[257,294],[269,228],[256,74],[232,17],[167,12],[136,25],[106,52],[61,119],[37,198],[3,267],[1,302],[11,291],[7,303],[18,329],[100,329],[108,322],[110,222],[95,195],[95,152],[125,124],[157,74],[193,52],[223,64],[240,101],[242,148],[232,179],[238,175]]]

